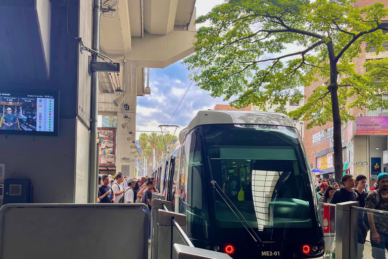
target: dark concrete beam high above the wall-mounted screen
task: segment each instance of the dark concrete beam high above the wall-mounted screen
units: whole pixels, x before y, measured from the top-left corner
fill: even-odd
[[[51,2],[0,2],[0,82],[49,80]]]

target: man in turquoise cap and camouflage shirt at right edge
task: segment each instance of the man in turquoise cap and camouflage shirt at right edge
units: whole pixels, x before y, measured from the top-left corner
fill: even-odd
[[[388,211],[388,174],[381,172],[377,176],[378,190],[371,191],[365,199],[365,207]],[[385,249],[388,250],[388,215],[368,211],[370,225],[370,242],[372,257],[385,259]]]

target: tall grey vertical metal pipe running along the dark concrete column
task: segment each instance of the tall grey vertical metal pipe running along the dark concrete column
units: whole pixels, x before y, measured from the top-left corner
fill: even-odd
[[[96,52],[100,52],[100,0],[93,0],[93,37],[92,37],[92,49]],[[96,55],[92,55],[93,61],[99,61]],[[90,168],[89,168],[89,203],[95,203],[96,189],[97,189],[97,175],[98,170],[96,167],[96,148],[95,145],[97,135],[97,117],[99,106],[99,72],[93,72],[91,74],[91,100],[90,100]],[[93,155],[94,154],[94,155]]]

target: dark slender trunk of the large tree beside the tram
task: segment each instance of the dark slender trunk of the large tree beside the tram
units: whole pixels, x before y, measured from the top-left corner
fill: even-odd
[[[344,171],[342,160],[342,138],[341,138],[341,115],[338,103],[338,70],[335,62],[334,48],[332,41],[327,44],[330,60],[330,84],[327,89],[331,96],[331,109],[333,112],[333,150],[334,150],[334,171],[335,181],[339,182]]]

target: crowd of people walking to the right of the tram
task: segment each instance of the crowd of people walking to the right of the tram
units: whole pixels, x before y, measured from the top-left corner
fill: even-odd
[[[330,181],[330,179],[332,179]],[[371,190],[367,191],[367,178],[346,174],[340,184],[332,176],[329,179],[318,179],[316,183],[319,202],[337,204],[356,201],[360,207],[388,211],[388,174],[382,172]],[[359,211],[358,217],[358,258],[363,257],[364,244],[370,231],[372,257],[385,259],[385,249],[388,250],[388,214]]]

